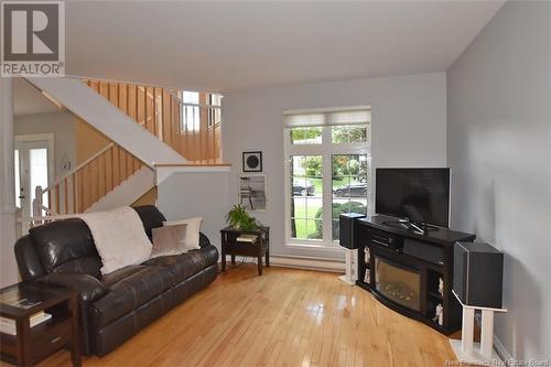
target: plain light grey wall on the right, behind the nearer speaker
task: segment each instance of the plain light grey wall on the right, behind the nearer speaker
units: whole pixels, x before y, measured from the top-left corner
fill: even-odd
[[[447,72],[452,220],[505,252],[496,334],[551,357],[551,3],[507,2]]]

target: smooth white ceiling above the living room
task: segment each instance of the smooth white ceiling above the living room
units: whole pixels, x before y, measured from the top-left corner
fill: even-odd
[[[503,1],[69,1],[67,73],[195,90],[447,69]]]

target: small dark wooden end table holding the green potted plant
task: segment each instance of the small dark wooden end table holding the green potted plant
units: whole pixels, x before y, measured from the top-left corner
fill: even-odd
[[[258,230],[239,230],[226,227],[222,235],[222,271],[226,271],[226,256],[231,256],[231,265],[236,263],[236,256],[255,257],[258,259],[258,274],[262,276],[262,257],[266,256],[266,266],[270,266],[270,227]],[[239,241],[241,235],[255,235],[253,242]]]

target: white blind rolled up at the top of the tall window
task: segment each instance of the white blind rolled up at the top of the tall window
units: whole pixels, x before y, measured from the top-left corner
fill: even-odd
[[[369,125],[371,110],[369,106],[285,110],[283,117],[285,128]]]

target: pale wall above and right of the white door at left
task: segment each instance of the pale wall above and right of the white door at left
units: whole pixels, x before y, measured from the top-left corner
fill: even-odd
[[[14,118],[14,134],[53,133],[54,134],[54,176],[61,177],[69,171],[62,170],[63,155],[66,154],[76,164],[75,117],[67,112],[21,115]],[[52,181],[55,181],[52,177]]]

